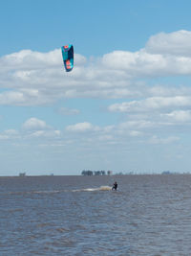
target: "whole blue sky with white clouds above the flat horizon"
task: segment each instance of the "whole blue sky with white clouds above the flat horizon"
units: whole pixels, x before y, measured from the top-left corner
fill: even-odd
[[[0,0],[0,175],[190,173],[190,9]]]

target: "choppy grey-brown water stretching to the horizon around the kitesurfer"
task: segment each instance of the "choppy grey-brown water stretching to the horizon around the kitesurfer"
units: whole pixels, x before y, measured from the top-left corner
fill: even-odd
[[[0,255],[191,255],[191,175],[0,177]]]

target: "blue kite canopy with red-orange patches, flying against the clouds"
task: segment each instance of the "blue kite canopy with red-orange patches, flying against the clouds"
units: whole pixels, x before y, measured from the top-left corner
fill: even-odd
[[[74,67],[74,47],[72,44],[62,46],[62,58],[66,72],[69,72]]]

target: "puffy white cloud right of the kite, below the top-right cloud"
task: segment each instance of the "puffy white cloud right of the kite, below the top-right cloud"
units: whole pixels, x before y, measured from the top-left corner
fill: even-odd
[[[191,58],[147,53],[141,49],[136,53],[115,51],[103,56],[103,67],[122,70],[118,79],[138,79],[191,74]]]

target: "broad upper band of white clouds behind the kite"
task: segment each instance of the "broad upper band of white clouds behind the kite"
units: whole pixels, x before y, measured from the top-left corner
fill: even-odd
[[[49,53],[22,50],[3,56],[0,105],[51,105],[70,98],[153,96],[155,86],[149,88],[145,80],[191,75],[190,42],[191,32],[178,31],[151,36],[137,52],[115,51],[100,58],[75,54],[71,73],[64,71],[60,49]],[[162,90],[171,94],[169,88]]]

